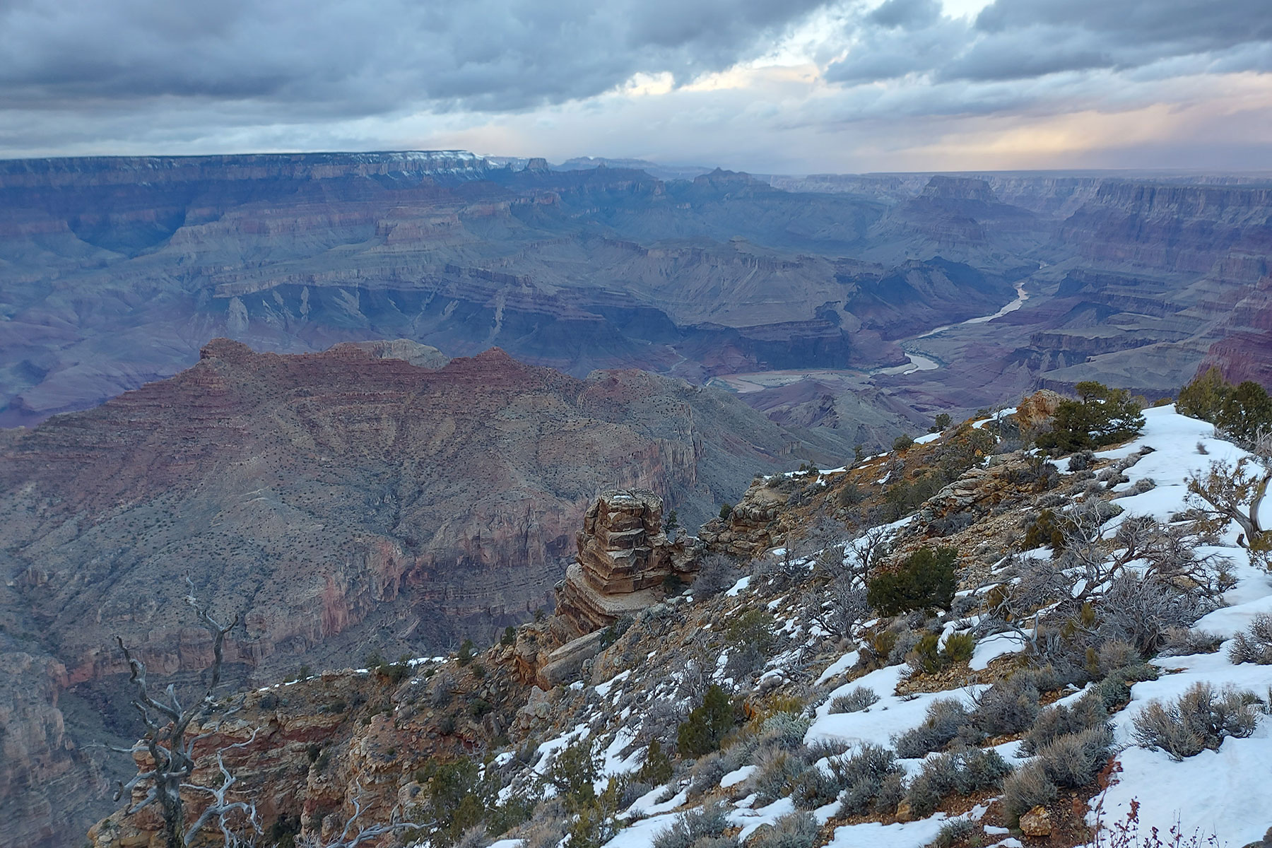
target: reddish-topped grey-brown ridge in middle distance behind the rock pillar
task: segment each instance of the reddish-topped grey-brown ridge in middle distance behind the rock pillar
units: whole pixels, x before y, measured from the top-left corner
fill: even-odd
[[[25,639],[0,657],[0,797],[52,834],[25,844],[60,844],[59,816],[79,825],[100,809],[100,790],[79,792],[94,709],[57,704],[112,697],[116,634],[156,675],[211,661],[182,609],[186,573],[243,614],[226,643],[238,681],[370,647],[418,655],[551,606],[604,488],[674,493],[696,523],[791,451],[836,455],[721,392],[633,371],[576,379],[499,350],[280,356],[218,339],[201,357],[0,441],[3,622]],[[69,810],[59,787],[79,787]]]

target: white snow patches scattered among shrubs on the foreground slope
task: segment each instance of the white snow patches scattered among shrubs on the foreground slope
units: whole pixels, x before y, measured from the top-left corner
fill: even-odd
[[[1005,411],[1010,412],[1010,411]],[[1205,470],[1213,460],[1235,460],[1244,455],[1234,445],[1216,439],[1213,428],[1193,418],[1177,414],[1173,407],[1145,411],[1146,425],[1140,437],[1116,450],[1103,451],[1104,459],[1122,459],[1136,454],[1144,446],[1151,446],[1152,453],[1144,455],[1126,470],[1130,479],[1118,487],[1127,491],[1145,478],[1151,478],[1155,487],[1141,495],[1118,498],[1116,502],[1124,512],[1107,525],[1107,534],[1116,529],[1119,521],[1132,515],[1151,515],[1163,521],[1187,509],[1187,479]],[[990,420],[978,421],[978,426]],[[1205,454],[1198,451],[1202,445]],[[1061,464],[1067,470],[1066,464]],[[1272,502],[1264,506],[1264,521],[1272,523]],[[903,524],[898,523],[899,524]],[[1202,553],[1221,553],[1231,559],[1231,570],[1238,578],[1236,585],[1225,595],[1226,606],[1211,613],[1197,623],[1197,628],[1222,637],[1231,637],[1245,628],[1259,613],[1272,613],[1272,578],[1249,564],[1245,553],[1235,547],[1236,530],[1229,529],[1222,547],[1203,549]],[[745,592],[750,578],[743,578],[726,592],[738,596]],[[977,645],[972,667],[983,669],[996,656],[1021,650],[1019,636],[1004,634],[991,637]],[[856,662],[851,652],[832,662],[818,683],[833,679]],[[1262,698],[1272,690],[1272,666],[1233,665],[1227,660],[1226,643],[1216,653],[1196,656],[1172,656],[1155,660],[1163,670],[1160,679],[1138,683],[1132,688],[1131,704],[1116,716],[1117,739],[1124,746],[1118,756],[1121,773],[1116,783],[1105,792],[1102,801],[1102,820],[1105,824],[1124,817],[1132,800],[1140,804],[1140,821],[1144,830],[1158,826],[1163,831],[1177,820],[1186,834],[1199,829],[1201,834],[1216,834],[1220,843],[1243,845],[1262,838],[1272,824],[1272,718],[1261,716],[1252,737],[1227,739],[1217,751],[1203,751],[1184,762],[1172,762],[1161,751],[1150,751],[1133,745],[1132,720],[1152,699],[1175,698],[1197,681],[1210,681],[1216,687],[1236,685],[1250,689]],[[889,666],[838,687],[815,707],[815,716],[805,741],[833,740],[854,746],[862,742],[889,745],[890,739],[923,721],[927,706],[936,698],[959,698],[971,702],[976,687],[943,692],[898,697],[895,687],[904,674],[904,666]],[[609,694],[613,685],[603,684],[603,694]],[[832,715],[831,702],[842,694],[866,687],[879,695],[879,702],[868,709],[854,713]],[[597,688],[598,692],[602,687]],[[1077,695],[1074,695],[1077,697]],[[560,746],[558,740],[544,746]],[[611,745],[607,750],[607,769],[626,770],[635,767],[639,759],[617,758],[618,748]],[[1016,756],[1018,745],[1009,742],[1000,746],[1000,753],[1009,762],[1021,762]],[[551,751],[546,751],[551,753]],[[907,768],[917,767],[918,762],[904,763]],[[749,767],[748,767],[749,768]],[[913,770],[911,768],[911,770]],[[721,783],[731,786],[749,776],[747,768],[725,776]],[[660,790],[664,796],[669,790]],[[658,792],[658,791],[656,791]],[[654,837],[674,821],[674,805],[683,800],[683,793],[663,804],[654,804],[659,797],[650,793],[637,804],[635,812],[651,815],[636,821],[608,843],[607,848],[646,848]],[[742,826],[739,838],[744,840],[758,826],[775,821],[794,807],[789,798],[777,801],[759,810],[750,809],[753,798],[738,802],[730,814],[734,824]],[[670,805],[670,806],[669,806]],[[826,807],[819,811],[819,820],[829,815]],[[979,812],[983,812],[981,810]],[[977,814],[978,815],[978,814]],[[832,848],[921,848],[931,843],[945,821],[944,814],[907,824],[859,824],[841,826],[834,830],[829,845]],[[1004,837],[1006,834],[1002,834]],[[1002,845],[1019,845],[1014,839],[1000,842]]]

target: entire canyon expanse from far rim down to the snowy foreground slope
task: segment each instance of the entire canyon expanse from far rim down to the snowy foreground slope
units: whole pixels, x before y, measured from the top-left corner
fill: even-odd
[[[178,687],[206,669],[187,573],[244,617],[235,685],[487,645],[561,601],[586,626],[500,651],[550,687],[614,618],[618,537],[655,562],[641,605],[696,570],[670,510],[749,492],[702,533],[749,557],[781,511],[753,475],[937,412],[1272,381],[1258,177],[644,168],[0,161],[0,845],[108,807],[126,764],[90,744],[137,732],[113,637]]]

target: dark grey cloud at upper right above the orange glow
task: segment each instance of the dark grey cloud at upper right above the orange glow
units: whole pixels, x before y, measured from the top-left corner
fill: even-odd
[[[857,84],[909,74],[932,81],[1027,80],[1133,70],[1201,57],[1225,70],[1268,70],[1272,14],[1249,0],[997,0],[974,22],[931,15],[923,0],[888,0],[865,15],[827,78]],[[1203,69],[1205,70],[1205,69]]]

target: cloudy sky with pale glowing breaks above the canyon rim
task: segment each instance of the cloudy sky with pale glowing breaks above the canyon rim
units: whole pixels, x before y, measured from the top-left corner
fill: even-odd
[[[1272,169],[1272,0],[0,0],[0,158]]]

